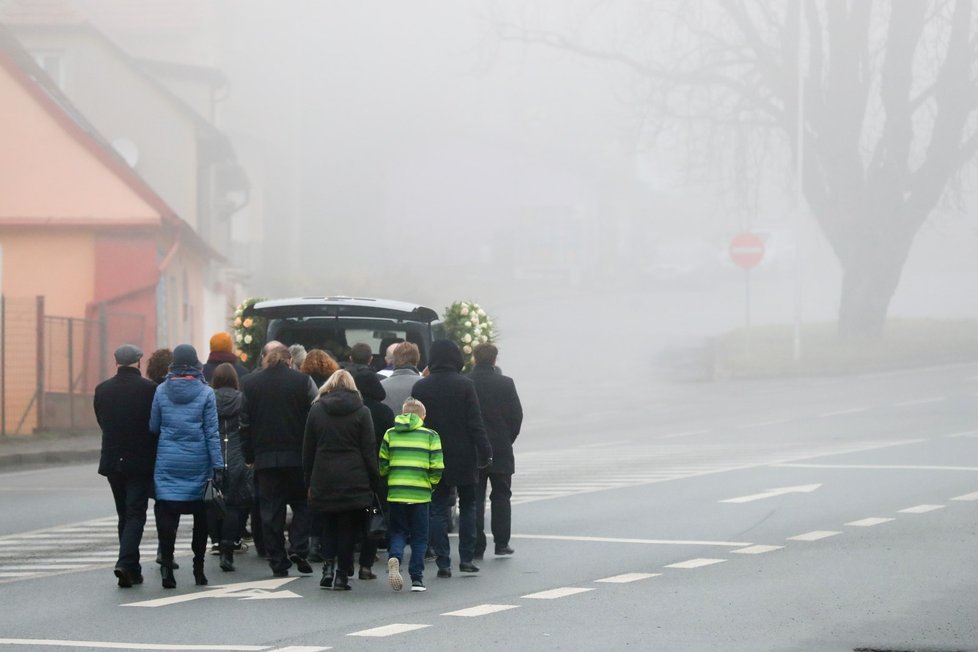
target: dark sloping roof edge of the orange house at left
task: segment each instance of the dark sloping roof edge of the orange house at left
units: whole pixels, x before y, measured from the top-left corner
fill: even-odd
[[[136,195],[145,201],[160,216],[161,223],[177,230],[181,239],[202,251],[210,258],[223,260],[194,229],[136,174],[115,151],[111,144],[72,104],[71,100],[57,87],[50,77],[34,61],[34,58],[0,25],[0,68],[37,100],[45,110],[69,135],[86,151],[105,165],[123,181]]]

